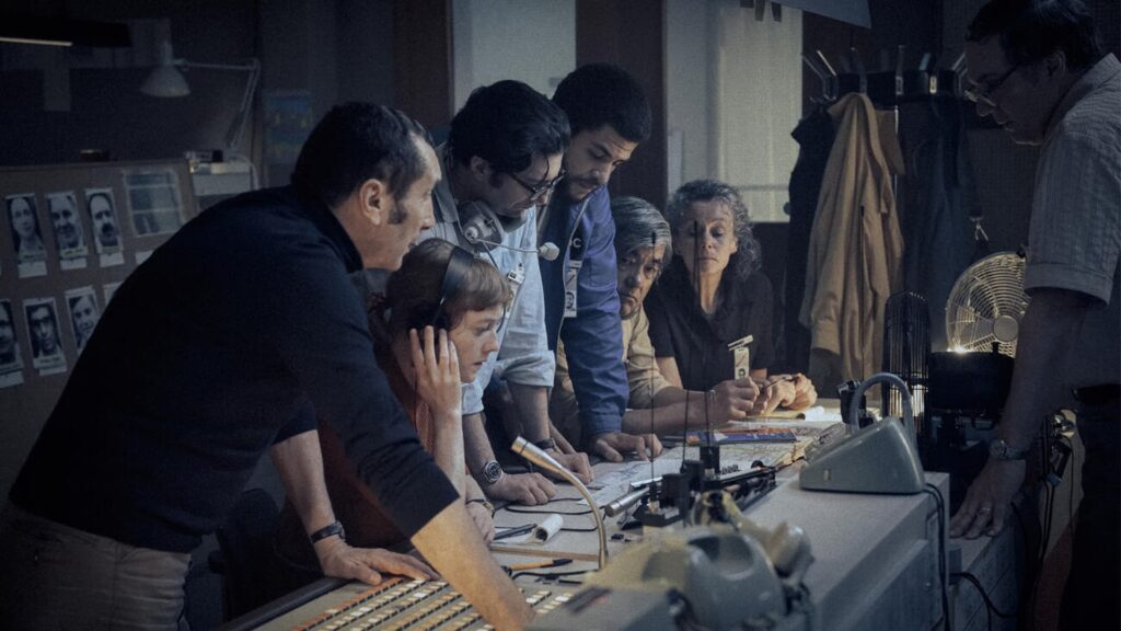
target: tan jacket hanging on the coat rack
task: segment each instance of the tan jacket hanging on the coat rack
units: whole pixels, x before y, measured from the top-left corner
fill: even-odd
[[[817,199],[799,314],[813,337],[810,378],[826,387],[879,372],[884,304],[902,286],[904,255],[891,191],[891,173],[904,166],[891,113],[853,93],[830,116],[837,132]]]

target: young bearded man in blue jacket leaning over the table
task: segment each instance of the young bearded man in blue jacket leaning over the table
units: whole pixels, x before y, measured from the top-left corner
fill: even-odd
[[[553,102],[568,115],[573,138],[565,177],[538,221],[538,240],[563,254],[540,264],[549,348],[564,340],[587,448],[612,461],[628,452],[646,459],[661,452],[657,437],[622,431],[630,391],[608,181],[650,136],[650,106],[634,77],[608,64],[569,73]]]

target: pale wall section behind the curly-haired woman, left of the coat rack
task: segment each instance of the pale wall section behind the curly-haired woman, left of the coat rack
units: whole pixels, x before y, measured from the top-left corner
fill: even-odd
[[[715,177],[756,221],[787,221],[802,109],[802,12],[761,21],[738,0],[667,0],[668,189]]]

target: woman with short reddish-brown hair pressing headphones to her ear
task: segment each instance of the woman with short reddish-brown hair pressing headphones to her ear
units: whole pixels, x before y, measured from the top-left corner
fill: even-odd
[[[421,445],[460,491],[488,542],[494,524],[490,504],[466,470],[461,384],[470,383],[498,350],[498,328],[509,301],[509,285],[493,265],[442,239],[428,239],[405,256],[387,282],[385,299],[370,308],[378,364]],[[362,548],[407,547],[326,423],[319,424],[319,442],[331,504],[346,541]],[[285,560],[308,573],[317,569],[303,525],[288,506],[277,539]]]

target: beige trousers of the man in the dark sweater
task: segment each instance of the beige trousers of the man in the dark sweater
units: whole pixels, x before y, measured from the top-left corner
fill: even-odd
[[[4,629],[186,628],[188,554],[129,546],[9,504],[0,559]]]

